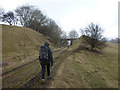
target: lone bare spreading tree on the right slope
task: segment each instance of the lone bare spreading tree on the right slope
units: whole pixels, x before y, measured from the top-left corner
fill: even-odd
[[[81,29],[81,34],[87,36],[84,40],[91,46],[91,50],[102,49],[105,46],[103,29],[99,25],[91,23],[85,29]]]

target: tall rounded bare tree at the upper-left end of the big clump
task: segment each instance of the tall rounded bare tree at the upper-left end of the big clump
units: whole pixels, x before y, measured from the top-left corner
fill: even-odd
[[[42,12],[30,5],[23,5],[15,10],[22,26],[38,30],[46,22],[46,16]]]

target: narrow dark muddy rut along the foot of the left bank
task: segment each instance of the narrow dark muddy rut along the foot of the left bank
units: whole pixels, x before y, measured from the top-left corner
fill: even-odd
[[[60,51],[60,50],[55,50],[55,51],[53,51],[53,52],[58,52],[58,51]],[[15,68],[13,68],[13,69],[10,69],[10,70],[8,70],[8,71],[6,71],[6,72],[3,72],[3,73],[2,73],[2,77],[5,76],[5,75],[7,75],[7,74],[9,74],[9,73],[11,73],[11,72],[14,72],[15,70],[18,70],[18,69],[20,69],[20,68],[22,68],[22,67],[25,67],[25,66],[27,66],[27,65],[29,65],[29,64],[37,61],[37,60],[38,60],[38,58],[35,59],[35,60],[32,60],[32,61],[30,61],[30,62],[28,62],[28,63],[25,63],[25,64],[23,64],[23,65],[20,65],[20,66],[18,66],[18,67],[15,67]],[[1,75],[0,75],[0,76],[1,76]]]

